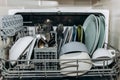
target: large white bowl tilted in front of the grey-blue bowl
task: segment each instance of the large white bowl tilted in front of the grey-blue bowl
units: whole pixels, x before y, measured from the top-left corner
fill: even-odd
[[[76,59],[69,60],[69,59]],[[79,60],[77,64],[77,59]],[[78,67],[77,67],[78,66]],[[77,76],[77,75],[83,75],[86,72],[88,72],[92,67],[91,59],[86,52],[78,52],[78,53],[70,53],[70,54],[64,54],[60,56],[60,68],[61,68],[61,74],[64,74],[66,76]],[[79,71],[72,72],[72,71]],[[82,71],[82,72],[81,72]]]

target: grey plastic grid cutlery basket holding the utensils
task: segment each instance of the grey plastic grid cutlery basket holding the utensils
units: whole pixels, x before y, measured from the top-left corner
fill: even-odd
[[[57,62],[49,61],[57,59],[57,36],[55,32],[51,33],[55,34],[55,44],[53,47],[38,48],[36,46],[34,48],[34,59],[36,60],[34,64],[36,70],[57,70]]]

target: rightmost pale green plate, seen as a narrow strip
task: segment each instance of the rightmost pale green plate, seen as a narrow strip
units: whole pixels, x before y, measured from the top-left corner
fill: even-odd
[[[105,41],[105,19],[103,16],[100,16],[100,38],[97,48],[102,48]]]

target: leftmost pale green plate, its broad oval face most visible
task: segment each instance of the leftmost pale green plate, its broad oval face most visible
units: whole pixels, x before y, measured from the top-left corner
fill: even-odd
[[[85,45],[88,48],[89,53],[91,53],[96,41],[97,24],[97,19],[93,14],[89,15],[83,24],[85,32]]]

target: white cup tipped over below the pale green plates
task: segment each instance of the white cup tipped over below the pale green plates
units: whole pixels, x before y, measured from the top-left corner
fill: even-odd
[[[106,50],[104,48],[98,48],[92,56],[92,59],[100,59],[100,58],[111,58],[110,60],[99,60],[95,61],[95,66],[107,66],[110,65],[113,62],[113,57],[115,56],[114,50]]]

